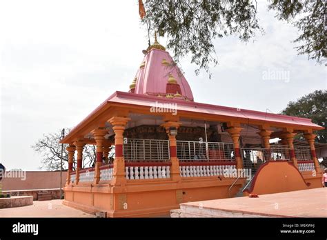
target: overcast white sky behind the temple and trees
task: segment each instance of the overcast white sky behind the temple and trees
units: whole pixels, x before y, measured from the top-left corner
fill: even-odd
[[[181,59],[195,101],[277,113],[326,89],[324,65],[296,54],[297,29],[258,2],[266,33],[248,43],[217,39],[212,79]],[[76,126],[112,92],[128,91],[147,47],[136,0],[0,1],[0,34],[0,162],[8,170],[38,170],[30,146],[43,134]]]

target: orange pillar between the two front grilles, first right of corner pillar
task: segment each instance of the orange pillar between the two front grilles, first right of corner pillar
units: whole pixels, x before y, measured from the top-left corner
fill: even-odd
[[[180,181],[181,175],[179,172],[179,160],[177,159],[177,142],[176,136],[170,134],[170,128],[176,128],[176,130],[181,126],[180,122],[177,121],[166,121],[166,123],[161,125],[166,129],[169,137],[169,150],[170,150],[170,177],[173,181]]]

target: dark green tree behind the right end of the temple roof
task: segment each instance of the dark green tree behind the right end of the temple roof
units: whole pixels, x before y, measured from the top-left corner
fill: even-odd
[[[319,126],[326,128],[327,118],[327,91],[316,90],[310,94],[301,97],[297,101],[290,101],[286,109],[282,114],[306,117],[313,120],[313,123],[317,123]],[[320,143],[326,143],[327,130],[317,131],[317,141]]]

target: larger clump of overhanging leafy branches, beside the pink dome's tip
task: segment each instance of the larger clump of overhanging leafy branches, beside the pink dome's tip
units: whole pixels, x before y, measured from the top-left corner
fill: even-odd
[[[247,41],[259,28],[251,1],[148,0],[145,6],[143,22],[168,37],[176,61],[190,52],[191,62],[199,66],[196,73],[201,68],[209,72],[209,64],[217,64],[213,39],[238,34]]]

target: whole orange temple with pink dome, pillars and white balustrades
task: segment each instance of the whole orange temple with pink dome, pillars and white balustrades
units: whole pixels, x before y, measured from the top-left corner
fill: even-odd
[[[157,39],[144,53],[129,91],[114,92],[61,140],[69,144],[63,204],[106,217],[151,217],[188,201],[321,187],[314,133],[323,127],[198,103]],[[307,146],[294,145],[300,134]],[[86,144],[96,146],[94,168],[81,168]]]

